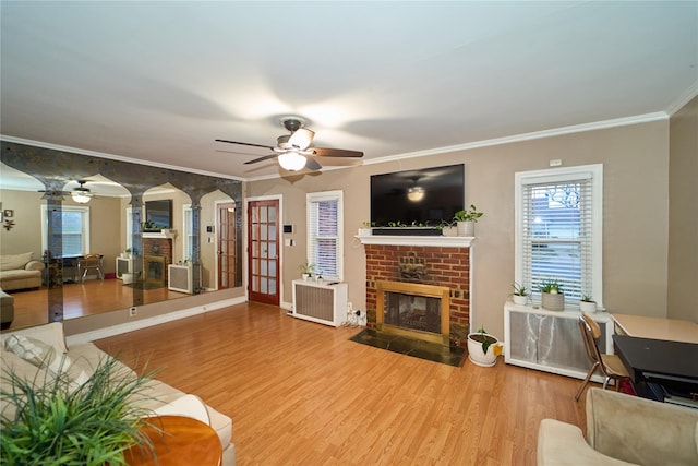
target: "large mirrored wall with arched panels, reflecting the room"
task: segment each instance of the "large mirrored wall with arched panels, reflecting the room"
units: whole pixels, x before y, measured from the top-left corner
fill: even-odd
[[[216,238],[206,228],[212,230],[216,202],[240,202],[239,181],[76,154],[68,154],[61,167],[60,155],[65,153],[57,156],[52,150],[4,141],[2,145],[0,203],[15,213],[15,220],[0,232],[0,255],[31,252],[45,265],[40,286],[7,291],[15,300],[12,328],[219,289]],[[21,158],[27,151],[34,156]],[[60,215],[56,196],[47,199],[51,187],[58,188],[53,194],[62,194]],[[71,193],[85,188],[88,201],[74,200]],[[146,205],[152,228],[145,225]],[[167,217],[169,228],[164,228],[159,224]],[[50,253],[46,225],[51,219],[60,223],[60,254]],[[96,263],[83,261],[91,254],[97,255]],[[62,315],[52,319],[48,309],[57,297]]]

